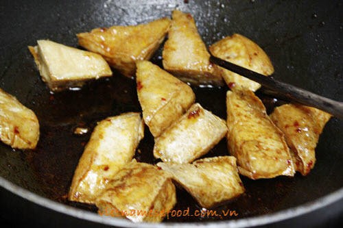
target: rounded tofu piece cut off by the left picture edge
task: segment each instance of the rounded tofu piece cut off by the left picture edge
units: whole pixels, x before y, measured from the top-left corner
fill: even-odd
[[[18,149],[34,149],[39,139],[36,114],[0,89],[0,139]]]

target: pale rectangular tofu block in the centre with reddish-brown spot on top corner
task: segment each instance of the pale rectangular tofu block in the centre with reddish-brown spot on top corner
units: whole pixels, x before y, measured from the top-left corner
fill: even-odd
[[[189,163],[209,152],[226,134],[225,121],[193,104],[181,118],[155,138],[154,157]]]

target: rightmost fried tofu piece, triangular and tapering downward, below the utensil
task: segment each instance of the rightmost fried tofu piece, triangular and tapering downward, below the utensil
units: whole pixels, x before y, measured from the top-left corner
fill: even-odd
[[[286,104],[276,107],[270,118],[285,133],[296,170],[309,174],[316,162],[319,136],[331,115],[314,107]]]

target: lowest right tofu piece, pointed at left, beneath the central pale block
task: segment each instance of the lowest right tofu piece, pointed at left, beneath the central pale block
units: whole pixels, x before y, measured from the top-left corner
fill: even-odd
[[[204,208],[214,207],[244,192],[233,156],[209,157],[193,164],[159,162],[157,166],[171,173]]]

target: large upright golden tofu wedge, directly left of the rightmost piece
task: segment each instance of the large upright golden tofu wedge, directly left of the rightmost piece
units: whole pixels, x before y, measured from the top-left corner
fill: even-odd
[[[261,100],[250,90],[226,94],[228,149],[241,175],[251,179],[294,176],[283,132],[274,125]]]

